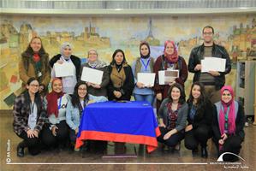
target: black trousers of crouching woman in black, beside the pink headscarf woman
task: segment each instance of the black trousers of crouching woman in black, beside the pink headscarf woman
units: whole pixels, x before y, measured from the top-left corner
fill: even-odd
[[[185,132],[184,144],[188,150],[194,150],[200,144],[201,147],[207,146],[208,139],[211,138],[211,127],[200,126]]]

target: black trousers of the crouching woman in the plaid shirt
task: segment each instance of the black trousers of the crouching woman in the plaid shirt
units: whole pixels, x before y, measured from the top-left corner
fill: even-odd
[[[17,134],[18,135],[18,134]],[[23,139],[23,142],[21,142],[21,148],[27,147],[28,152],[31,155],[37,155],[39,154],[41,150],[41,139],[40,134],[39,138],[28,138],[27,133],[25,131],[22,131],[20,135],[18,135],[21,139]]]

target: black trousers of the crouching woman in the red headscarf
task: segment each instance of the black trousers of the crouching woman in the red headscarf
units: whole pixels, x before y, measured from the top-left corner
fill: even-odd
[[[60,121],[56,126],[58,127],[56,136],[52,134],[49,125],[46,125],[42,131],[43,143],[48,147],[65,145],[68,142],[68,125],[66,121]]]

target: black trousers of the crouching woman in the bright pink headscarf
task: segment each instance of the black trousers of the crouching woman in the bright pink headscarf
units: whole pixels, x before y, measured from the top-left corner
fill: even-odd
[[[217,140],[215,140],[215,144],[217,147],[217,152],[218,152],[218,156],[220,156],[221,154],[223,154],[224,152],[232,152],[235,155],[239,155],[240,150],[241,150],[241,143],[242,143],[243,139],[241,139],[240,136],[238,135],[230,135],[228,137],[228,139],[226,139],[224,141],[223,144],[223,149],[219,150],[219,144],[217,142]],[[223,161],[229,161],[229,162],[233,162],[237,159],[237,156],[234,155],[230,155],[230,154],[226,154],[223,156]]]

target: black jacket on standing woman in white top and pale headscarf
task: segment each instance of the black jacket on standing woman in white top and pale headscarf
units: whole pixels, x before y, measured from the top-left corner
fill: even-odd
[[[51,68],[53,68],[53,65],[55,62],[57,62],[57,60],[59,60],[61,58],[61,54],[58,54],[57,56],[53,56],[50,60],[50,66]],[[77,56],[70,56],[71,61],[74,63],[74,67],[75,67],[75,74],[76,74],[76,80],[80,79],[80,58]]]

